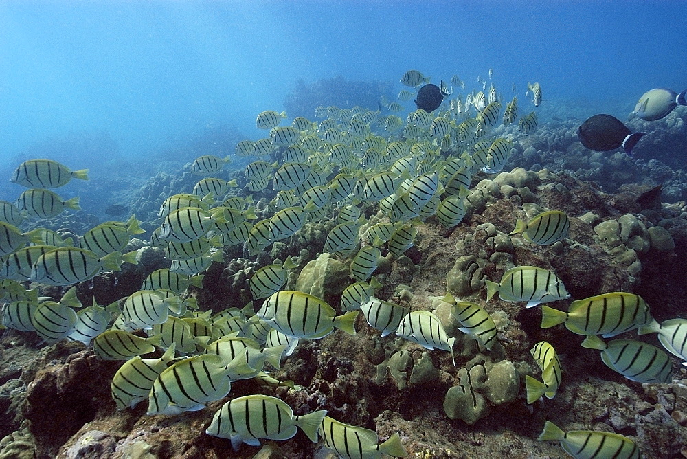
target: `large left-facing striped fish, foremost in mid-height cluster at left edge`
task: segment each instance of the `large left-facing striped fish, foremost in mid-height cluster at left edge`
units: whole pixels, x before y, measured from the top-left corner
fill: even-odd
[[[31,281],[47,285],[70,285],[94,278],[101,271],[120,271],[122,262],[137,265],[135,251],[98,258],[92,251],[59,247],[38,257],[31,269]]]

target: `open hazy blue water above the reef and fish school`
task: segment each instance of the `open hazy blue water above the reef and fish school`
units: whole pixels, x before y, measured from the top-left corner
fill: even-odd
[[[627,116],[647,89],[687,87],[686,12],[664,0],[2,1],[0,173],[37,142],[97,176],[216,126],[258,139],[256,115],[284,109],[297,80],[339,75],[398,91],[408,69],[476,85],[492,67],[506,94],[538,81],[545,104]],[[75,138],[95,147],[60,147]]]

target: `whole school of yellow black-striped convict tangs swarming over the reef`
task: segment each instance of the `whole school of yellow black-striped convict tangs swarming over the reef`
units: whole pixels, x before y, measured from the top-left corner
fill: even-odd
[[[481,90],[462,93],[465,83],[453,76],[451,87],[442,82],[436,109],[410,111],[405,120],[394,113],[404,107],[387,98],[380,101],[386,114],[360,107],[317,107],[320,121],[297,117],[280,126],[286,113],[263,111],[256,127],[269,130],[257,142],[236,146],[237,156],[256,156],[245,169],[250,190],[271,188],[269,216],[258,220],[251,197],[238,197],[236,180],[204,177],[190,194],[174,194],[160,203],[161,224],[150,236],[151,245],[164,249],[168,269],[150,273],[139,291],[110,305],[82,305],[71,287],[56,302],[39,297],[29,282],[71,286],[102,271],[119,271],[136,261],[136,253],[122,253],[128,242],[144,231],[135,216],[128,221],[102,223],[79,240],[63,239],[45,228],[23,232],[19,227],[34,217],[50,218],[66,208],[78,208],[78,198],[64,201],[49,191],[70,179],[88,179],[86,170],[71,171],[55,161],[36,159],[21,164],[12,181],[29,188],[15,203],[0,203],[1,326],[37,333],[45,343],[72,339],[93,346],[101,359],[124,361],[111,382],[113,401],[120,410],[147,401],[148,415],[180,415],[201,410],[224,399],[206,433],[242,443],[287,440],[300,429],[313,442],[324,444],[342,458],[373,458],[381,454],[405,456],[398,434],[380,442],[374,431],[343,424],[324,410],[295,416],[291,407],[273,396],[251,395],[231,399],[232,382],[261,379],[287,384],[271,376],[288,359],[299,340],[321,339],[330,333],[355,335],[357,315],[381,336],[395,333],[429,350],[453,356],[454,336],[430,311],[407,311],[374,296],[381,284],[372,277],[382,251],[394,258],[414,244],[418,226],[436,218],[444,227],[460,224],[477,172],[495,174],[504,168],[516,135],[537,130],[534,111],[518,119],[518,100],[502,101],[489,80]],[[416,97],[429,77],[409,71],[398,100]],[[541,103],[541,87],[528,83],[534,107]],[[430,98],[431,99],[431,98]],[[425,98],[424,100],[430,100]],[[429,103],[429,102],[428,102]],[[502,111],[502,104],[505,110]],[[502,133],[496,135],[495,133]],[[505,134],[509,132],[508,134]],[[206,155],[191,165],[195,174],[210,176],[229,158]],[[31,188],[40,187],[40,188]],[[365,210],[376,205],[379,223],[370,224]],[[278,240],[287,240],[308,222],[333,219],[324,251],[348,263],[352,282],[340,298],[339,313],[322,298],[283,290],[291,258],[261,267],[250,280],[251,302],[242,308],[209,311],[187,289],[203,287],[203,271],[223,262],[223,247],[243,246],[255,256]],[[564,212],[550,210],[530,221],[518,221],[511,235],[528,243],[550,245],[568,236]],[[570,298],[555,273],[535,266],[514,267],[499,282],[487,284],[487,301],[498,293],[508,302],[527,307]],[[498,341],[496,326],[475,302],[447,294],[433,300],[451,305],[460,331],[480,348],[491,350]],[[687,321],[658,324],[638,295],[609,292],[576,299],[567,312],[541,306],[541,326],[565,324],[572,333],[586,335],[583,346],[600,350],[609,368],[632,381],[666,383],[671,359],[656,346],[629,339],[611,340],[638,329],[658,333],[663,347],[687,359]],[[340,331],[337,331],[339,329]],[[161,349],[158,358],[143,358]],[[551,399],[561,383],[561,361],[554,348],[539,342],[532,357],[541,368],[541,381],[526,378],[528,403],[541,396]],[[455,364],[455,359],[453,360]],[[605,432],[568,432],[547,423],[541,440],[559,440],[575,457],[635,457],[638,449],[624,436]]]

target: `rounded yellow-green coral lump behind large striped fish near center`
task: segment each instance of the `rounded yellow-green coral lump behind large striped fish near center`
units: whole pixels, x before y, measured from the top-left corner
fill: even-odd
[[[346,265],[324,253],[305,265],[296,280],[296,290],[327,300],[341,295],[348,284]]]

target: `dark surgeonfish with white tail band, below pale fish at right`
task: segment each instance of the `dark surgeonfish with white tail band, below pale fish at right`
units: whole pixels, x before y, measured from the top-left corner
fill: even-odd
[[[577,135],[589,150],[609,151],[622,146],[625,153],[631,155],[632,148],[646,133],[633,134],[618,118],[611,115],[594,115],[582,123]]]

